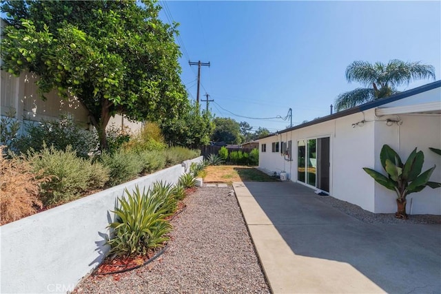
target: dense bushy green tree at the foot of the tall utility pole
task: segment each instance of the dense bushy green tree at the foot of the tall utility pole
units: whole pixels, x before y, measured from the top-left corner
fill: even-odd
[[[214,131],[212,114],[199,112],[196,104],[188,105],[185,112],[161,124],[165,140],[169,145],[198,148],[208,145]]]

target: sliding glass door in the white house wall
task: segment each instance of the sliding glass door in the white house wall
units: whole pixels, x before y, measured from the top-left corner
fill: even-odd
[[[329,137],[298,141],[297,180],[329,192]]]

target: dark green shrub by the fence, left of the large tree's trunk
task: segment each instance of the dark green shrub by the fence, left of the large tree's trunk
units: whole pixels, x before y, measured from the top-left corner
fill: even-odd
[[[45,143],[57,150],[65,150],[70,145],[77,156],[88,158],[98,146],[96,134],[81,129],[72,118],[65,115],[60,116],[59,120],[26,123],[25,133],[16,142],[17,151],[23,154],[30,149],[40,151]]]

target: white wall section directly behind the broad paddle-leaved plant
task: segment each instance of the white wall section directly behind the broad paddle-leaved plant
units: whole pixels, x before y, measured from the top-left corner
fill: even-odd
[[[441,115],[440,114],[400,114],[378,118],[402,120],[402,125],[393,124],[390,127],[384,121],[376,122],[376,167],[382,171],[380,151],[382,145],[387,144],[397,151],[403,162],[409,157],[411,151],[424,152],[424,165],[422,171],[436,165],[431,176],[432,182],[441,182],[441,156],[433,153],[429,147],[441,149]],[[382,185],[375,184],[375,212],[390,213],[396,211],[396,193]],[[411,207],[412,198],[412,207]],[[412,214],[441,214],[441,189],[426,187],[418,193],[411,193],[407,198],[407,213]]]

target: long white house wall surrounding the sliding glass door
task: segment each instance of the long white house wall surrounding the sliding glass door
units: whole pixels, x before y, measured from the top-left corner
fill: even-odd
[[[289,178],[297,182],[298,140],[329,137],[330,171],[329,191],[331,196],[357,204],[363,209],[374,211],[374,186],[362,167],[373,167],[373,109],[351,114],[324,123],[303,127],[278,135],[278,140],[292,140],[292,161],[287,162],[279,154],[271,154],[271,142],[276,136],[259,140],[267,144],[267,152],[260,147],[259,167],[269,171],[285,169]],[[352,127],[353,123],[367,120],[364,125]],[[302,182],[299,182],[302,183]],[[302,183],[303,184],[303,183]]]

